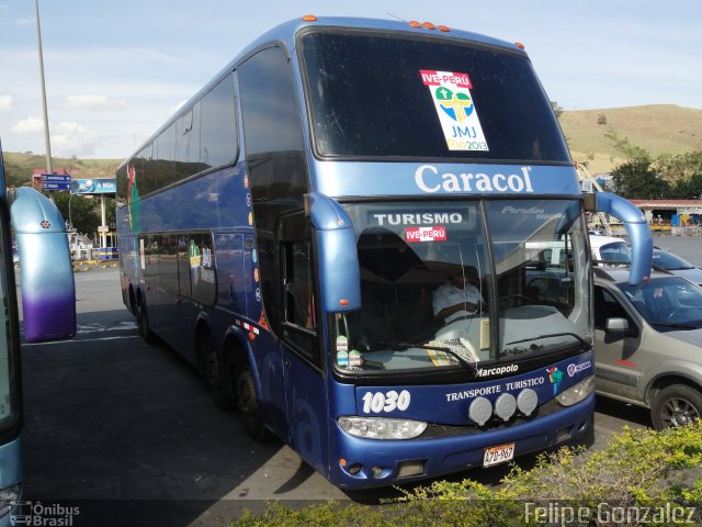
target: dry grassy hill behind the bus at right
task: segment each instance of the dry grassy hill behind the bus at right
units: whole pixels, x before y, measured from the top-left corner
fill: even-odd
[[[702,150],[702,110],[672,104],[564,111],[563,133],[576,161],[590,164],[590,172],[608,172],[625,160],[612,133],[631,145],[661,154]]]

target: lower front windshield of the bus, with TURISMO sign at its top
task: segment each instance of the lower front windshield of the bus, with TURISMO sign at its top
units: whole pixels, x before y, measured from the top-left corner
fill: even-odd
[[[358,237],[362,307],[335,316],[340,370],[473,367],[590,346],[576,202],[346,208]]]

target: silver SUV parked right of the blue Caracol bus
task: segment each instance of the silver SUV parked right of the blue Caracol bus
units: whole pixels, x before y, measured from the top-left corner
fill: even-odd
[[[596,267],[593,311],[597,393],[650,408],[656,429],[702,415],[702,288]]]

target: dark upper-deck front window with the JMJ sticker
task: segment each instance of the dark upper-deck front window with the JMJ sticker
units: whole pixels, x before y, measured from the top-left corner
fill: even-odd
[[[569,161],[521,53],[338,29],[307,33],[299,47],[320,157]],[[432,72],[452,74],[445,89]]]

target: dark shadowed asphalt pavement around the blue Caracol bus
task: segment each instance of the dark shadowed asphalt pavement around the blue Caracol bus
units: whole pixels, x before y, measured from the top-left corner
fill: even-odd
[[[76,338],[22,349],[25,500],[77,501],[79,527],[185,526],[218,525],[242,508],[263,508],[265,500],[395,495],[344,493],[280,441],[252,441],[235,413],[211,402],[193,368],[138,337],[117,269],[77,273],[76,285]],[[649,423],[644,410],[599,401],[596,448],[623,425]],[[498,484],[506,470],[455,479]]]

